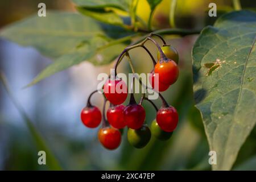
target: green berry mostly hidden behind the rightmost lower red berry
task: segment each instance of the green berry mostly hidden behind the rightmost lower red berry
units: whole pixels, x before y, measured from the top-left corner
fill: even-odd
[[[163,131],[158,126],[158,123],[156,122],[156,120],[152,121],[150,129],[151,129],[152,135],[154,135],[155,138],[162,140],[162,141],[168,140],[172,136],[172,132]]]

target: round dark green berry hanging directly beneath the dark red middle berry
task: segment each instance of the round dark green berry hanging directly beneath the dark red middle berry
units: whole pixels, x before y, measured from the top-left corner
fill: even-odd
[[[128,142],[136,147],[136,148],[143,148],[148,144],[151,138],[151,131],[147,125],[143,125],[138,130],[128,129],[127,132],[127,139]]]

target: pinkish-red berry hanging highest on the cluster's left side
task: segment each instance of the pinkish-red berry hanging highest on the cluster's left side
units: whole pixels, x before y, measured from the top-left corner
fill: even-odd
[[[121,79],[108,79],[104,84],[104,94],[112,104],[122,104],[127,97],[127,85]]]

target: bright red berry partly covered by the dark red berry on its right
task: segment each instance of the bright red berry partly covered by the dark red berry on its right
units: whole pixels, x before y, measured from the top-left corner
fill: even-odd
[[[123,115],[124,109],[124,105],[115,105],[109,107],[109,109],[106,112],[110,125],[115,127],[116,129],[122,129],[126,126],[125,116]]]

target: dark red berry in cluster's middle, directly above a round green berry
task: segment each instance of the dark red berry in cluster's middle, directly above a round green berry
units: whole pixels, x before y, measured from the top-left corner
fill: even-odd
[[[146,117],[144,108],[138,104],[126,106],[123,114],[125,115],[126,125],[131,129],[141,128]]]

